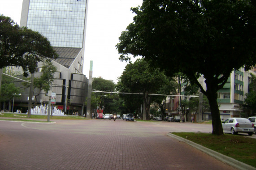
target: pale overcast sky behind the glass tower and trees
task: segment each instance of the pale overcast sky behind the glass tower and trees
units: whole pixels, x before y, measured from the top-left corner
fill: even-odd
[[[89,77],[93,61],[93,77],[117,82],[126,63],[119,61],[115,45],[121,32],[133,21],[131,7],[143,0],[89,0],[83,74]],[[20,23],[22,0],[0,0],[0,14]],[[135,59],[133,59],[135,60]]]

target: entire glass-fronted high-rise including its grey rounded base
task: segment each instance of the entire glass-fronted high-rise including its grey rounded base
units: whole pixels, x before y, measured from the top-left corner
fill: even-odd
[[[83,115],[87,96],[88,79],[82,74],[88,0],[23,0],[20,26],[38,31],[48,38],[59,55],[52,60],[56,66],[52,92],[56,93],[59,109]],[[35,77],[40,76],[43,63],[38,64]],[[21,68],[19,68],[21,69]],[[39,90],[34,90],[38,92]],[[34,96],[36,95],[34,93]],[[37,101],[48,102],[47,92],[40,92]],[[26,105],[28,90],[18,99]],[[38,103],[38,104],[40,104]]]

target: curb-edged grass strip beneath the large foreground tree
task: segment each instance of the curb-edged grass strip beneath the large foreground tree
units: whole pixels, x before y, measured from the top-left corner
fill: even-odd
[[[173,132],[172,134],[256,167],[256,139],[231,134],[221,136],[193,132]]]

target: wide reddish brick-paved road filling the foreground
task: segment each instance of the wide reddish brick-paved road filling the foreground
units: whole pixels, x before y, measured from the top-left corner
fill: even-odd
[[[122,119],[0,121],[1,170],[234,170],[168,132],[211,124]]]

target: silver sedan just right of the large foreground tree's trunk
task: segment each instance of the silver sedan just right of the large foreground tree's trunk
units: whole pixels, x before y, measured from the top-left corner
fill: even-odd
[[[231,132],[231,134],[248,133],[252,136],[254,132],[254,124],[246,118],[229,118],[221,123],[223,132]]]

